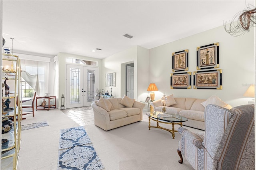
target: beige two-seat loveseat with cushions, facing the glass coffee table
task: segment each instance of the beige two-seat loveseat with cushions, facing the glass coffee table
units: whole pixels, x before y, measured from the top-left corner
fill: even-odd
[[[107,106],[104,104],[102,106],[98,103],[102,103],[102,101],[105,104],[107,103]],[[91,106],[94,113],[94,124],[104,130],[110,130],[141,121],[142,111],[145,105],[134,99],[123,97],[100,98],[100,100],[94,101]]]

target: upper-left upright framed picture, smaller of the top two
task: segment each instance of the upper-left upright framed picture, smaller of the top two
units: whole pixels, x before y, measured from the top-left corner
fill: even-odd
[[[188,49],[172,53],[172,72],[188,71]]]

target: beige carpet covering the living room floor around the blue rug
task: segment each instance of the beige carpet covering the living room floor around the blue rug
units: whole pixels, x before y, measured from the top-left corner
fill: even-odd
[[[35,115],[34,118],[27,115],[22,124],[47,121],[49,126],[22,131],[18,170],[56,170],[60,129],[79,125],[56,109],[36,111]],[[186,160],[183,164],[178,163],[180,134],[176,133],[172,139],[165,130],[148,130],[146,115],[143,115],[143,121],[110,131],[95,125],[84,127],[106,170],[193,169]]]

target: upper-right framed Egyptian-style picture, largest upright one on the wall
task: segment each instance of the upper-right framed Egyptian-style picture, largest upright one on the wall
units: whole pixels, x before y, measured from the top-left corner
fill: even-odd
[[[219,68],[219,43],[197,47],[196,69]]]

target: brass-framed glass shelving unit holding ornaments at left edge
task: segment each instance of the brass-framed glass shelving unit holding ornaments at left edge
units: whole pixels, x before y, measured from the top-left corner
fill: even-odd
[[[1,169],[13,169],[16,170],[18,166],[20,140],[21,140],[21,71],[20,71],[20,59],[17,55],[2,54],[2,63],[11,65],[10,69],[4,68],[2,70],[2,83],[4,83],[5,77],[8,77],[8,83],[14,84],[10,88],[8,94],[5,94],[3,88],[2,101],[10,100],[10,108],[12,110],[2,110],[2,118],[8,117],[13,120],[13,127],[10,132],[2,134],[2,139],[7,139],[7,142],[2,143],[2,155],[1,155]],[[14,88],[13,88],[14,87]],[[14,91],[13,91],[14,90]]]

